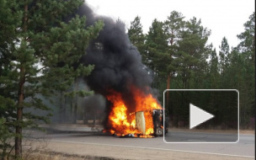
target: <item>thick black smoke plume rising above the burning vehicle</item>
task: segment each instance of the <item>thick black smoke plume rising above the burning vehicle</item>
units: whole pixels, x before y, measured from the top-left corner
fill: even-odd
[[[99,19],[104,21],[104,29],[90,43],[86,56],[80,61],[84,65],[95,65],[91,75],[84,77],[85,82],[94,92],[104,97],[111,90],[121,93],[128,110],[135,111],[131,86],[140,88],[144,93],[151,92],[148,87],[152,83],[152,77],[141,63],[140,53],[125,33],[125,24],[120,20],[94,14],[86,4],[77,13],[87,17],[88,25]]]

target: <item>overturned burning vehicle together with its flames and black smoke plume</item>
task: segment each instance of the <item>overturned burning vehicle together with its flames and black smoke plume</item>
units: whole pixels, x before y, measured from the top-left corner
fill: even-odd
[[[108,101],[104,131],[116,136],[162,136],[167,132],[163,131],[163,108],[150,87],[154,72],[141,62],[125,24],[96,15],[86,4],[77,13],[86,16],[88,25],[104,22],[104,29],[91,40],[87,54],[79,61],[84,66],[93,65],[93,72],[83,77],[84,82]]]

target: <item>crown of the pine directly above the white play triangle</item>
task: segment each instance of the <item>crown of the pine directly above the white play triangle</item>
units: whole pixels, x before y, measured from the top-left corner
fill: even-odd
[[[206,72],[206,59],[211,51],[211,46],[206,44],[209,35],[211,31],[204,28],[201,21],[195,17],[186,22],[178,41],[179,48],[175,60],[178,76],[182,79],[182,88],[190,88],[189,82],[193,80],[193,75],[196,75],[196,83]]]

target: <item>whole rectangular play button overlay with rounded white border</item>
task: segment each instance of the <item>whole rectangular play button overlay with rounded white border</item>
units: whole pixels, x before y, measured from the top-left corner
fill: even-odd
[[[166,143],[237,143],[236,89],[167,89],[163,92]],[[165,131],[165,130],[163,130]]]

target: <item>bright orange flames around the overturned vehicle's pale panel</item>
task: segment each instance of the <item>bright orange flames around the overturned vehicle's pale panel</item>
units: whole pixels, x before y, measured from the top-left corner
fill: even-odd
[[[143,111],[146,123],[146,135],[140,137],[151,137],[153,134],[153,120],[152,110],[162,109],[161,105],[157,103],[157,99],[152,97],[150,93],[143,93],[140,89],[132,87],[131,91],[134,95],[136,106],[130,106],[133,110],[132,113],[128,113],[125,101],[121,97],[121,93],[112,91],[107,99],[114,104],[109,114],[110,126],[109,132],[117,136],[125,136],[128,134],[134,134],[134,136],[142,135],[141,131],[136,129],[136,116],[134,112]]]

